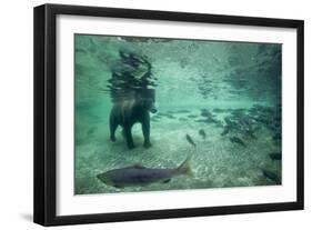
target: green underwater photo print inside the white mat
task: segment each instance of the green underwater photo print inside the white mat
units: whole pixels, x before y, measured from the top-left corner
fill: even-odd
[[[74,34],[74,194],[282,184],[282,44]]]

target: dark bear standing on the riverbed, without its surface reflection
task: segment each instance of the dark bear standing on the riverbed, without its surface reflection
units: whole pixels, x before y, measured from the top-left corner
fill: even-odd
[[[141,123],[144,138],[144,148],[151,147],[150,142],[150,112],[157,112],[154,107],[154,90],[142,89],[137,91],[133,97],[115,102],[110,113],[110,139],[115,141],[115,130],[122,127],[129,149],[133,149],[131,129],[134,123]]]

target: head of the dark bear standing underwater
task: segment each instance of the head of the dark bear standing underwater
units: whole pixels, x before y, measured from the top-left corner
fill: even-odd
[[[152,113],[157,112],[154,89],[142,89],[137,92],[135,98],[137,106],[140,106]]]

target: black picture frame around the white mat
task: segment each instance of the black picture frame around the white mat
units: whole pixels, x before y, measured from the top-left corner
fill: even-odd
[[[185,208],[118,213],[87,213],[82,216],[57,216],[56,203],[56,17],[59,14],[148,19],[183,22],[201,22],[230,26],[258,26],[296,29],[296,201],[207,208]],[[303,209],[303,42],[302,20],[217,16],[187,12],[114,9],[99,7],[43,4],[34,8],[34,193],[33,221],[42,226],[98,223],[162,218],[234,214]]]

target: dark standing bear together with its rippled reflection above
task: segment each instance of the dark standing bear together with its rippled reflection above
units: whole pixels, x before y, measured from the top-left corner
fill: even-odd
[[[115,141],[115,130],[122,127],[129,149],[134,148],[131,129],[134,123],[142,124],[144,147],[150,142],[150,112],[155,112],[155,78],[148,57],[119,51],[120,61],[112,68],[109,90],[113,107],[110,113],[110,139]]]

